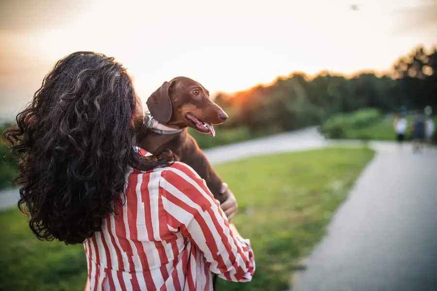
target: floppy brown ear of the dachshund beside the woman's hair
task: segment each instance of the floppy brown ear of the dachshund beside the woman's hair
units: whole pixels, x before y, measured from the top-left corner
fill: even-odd
[[[173,113],[170,99],[170,87],[173,82],[164,82],[152,95],[147,99],[147,107],[153,118],[160,123],[167,123]]]

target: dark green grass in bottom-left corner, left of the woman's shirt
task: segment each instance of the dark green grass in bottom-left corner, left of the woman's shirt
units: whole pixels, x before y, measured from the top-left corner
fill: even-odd
[[[1,291],[84,290],[83,245],[41,242],[18,210],[0,212]]]

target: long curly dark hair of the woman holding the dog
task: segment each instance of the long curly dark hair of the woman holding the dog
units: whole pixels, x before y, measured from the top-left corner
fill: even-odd
[[[18,207],[40,240],[74,244],[124,203],[125,175],[174,161],[134,152],[144,131],[132,80],[114,58],[75,52],[59,60],[4,140],[20,160]]]

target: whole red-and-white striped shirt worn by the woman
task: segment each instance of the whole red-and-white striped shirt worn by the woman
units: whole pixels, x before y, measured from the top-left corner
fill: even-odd
[[[142,155],[149,155],[139,149]],[[211,272],[250,281],[249,240],[235,237],[218,201],[188,165],[130,170],[125,203],[85,240],[88,276],[97,290],[212,290]]]

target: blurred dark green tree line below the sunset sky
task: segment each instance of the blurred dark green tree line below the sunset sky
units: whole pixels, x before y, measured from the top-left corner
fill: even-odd
[[[219,93],[215,102],[231,116],[224,128],[277,132],[320,124],[335,113],[361,108],[385,112],[437,109],[437,48],[416,47],[386,72],[346,77],[323,71],[310,77],[294,72],[272,85],[235,94]]]

